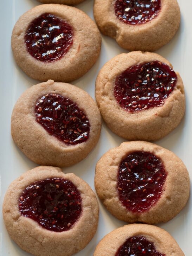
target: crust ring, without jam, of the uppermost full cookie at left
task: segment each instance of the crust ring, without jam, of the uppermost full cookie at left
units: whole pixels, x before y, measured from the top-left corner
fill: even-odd
[[[65,20],[73,28],[73,43],[59,60],[42,62],[32,57],[25,44],[28,25],[43,13]],[[12,32],[12,50],[20,68],[31,78],[47,81],[70,82],[83,76],[95,64],[101,49],[101,34],[87,14],[59,4],[38,5],[24,13]]]

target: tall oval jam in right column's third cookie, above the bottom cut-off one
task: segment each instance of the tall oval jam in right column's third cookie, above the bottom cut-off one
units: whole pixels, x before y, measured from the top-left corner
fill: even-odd
[[[157,156],[142,151],[129,154],[119,166],[119,199],[129,211],[144,212],[161,197],[166,177],[164,165]]]

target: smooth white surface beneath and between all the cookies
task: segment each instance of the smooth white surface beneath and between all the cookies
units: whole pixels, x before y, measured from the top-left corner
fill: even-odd
[[[186,114],[181,124],[164,139],[156,143],[177,154],[185,163],[192,177],[192,29],[191,29],[191,9],[192,2],[189,0],[178,0],[181,8],[181,26],[176,36],[169,44],[162,47],[157,53],[168,59],[175,71],[180,72],[183,78],[186,92]],[[12,141],[10,122],[14,103],[23,91],[31,85],[37,84],[35,81],[25,75],[15,63],[11,51],[11,33],[15,22],[20,15],[30,8],[40,4],[36,0],[0,0],[0,172],[1,188],[0,199],[1,209],[2,201],[9,184],[18,178],[25,171],[37,166],[19,151]],[[93,18],[92,8],[93,0],[85,0],[82,4],[76,6]],[[94,67],[82,78],[72,82],[72,84],[87,91],[93,98],[95,90],[95,78],[98,71],[110,58],[127,52],[121,49],[115,40],[102,36],[101,55]],[[89,156],[77,165],[63,169],[64,172],[73,172],[89,183],[94,188],[94,171],[98,159],[110,148],[119,146],[124,140],[113,134],[103,123],[101,138],[96,148]],[[2,219],[0,217],[0,255],[1,256],[29,256],[21,250],[9,237]],[[191,198],[185,209],[177,217],[165,224],[160,224],[161,228],[167,230],[176,239],[186,256],[191,256],[191,237],[192,237],[192,205]],[[110,215],[104,206],[100,203],[99,226],[95,237],[88,246],[76,256],[91,256],[97,243],[104,235],[110,231],[124,225]],[[107,256],[107,255],[106,255]],[[169,256],[169,255],[167,255]],[[171,256],[171,255],[170,255]]]

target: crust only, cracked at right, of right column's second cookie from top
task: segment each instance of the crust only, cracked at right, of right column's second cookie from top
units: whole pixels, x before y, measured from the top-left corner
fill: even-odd
[[[178,79],[174,90],[162,106],[131,113],[117,103],[114,96],[116,77],[131,66],[154,60],[173,68],[171,63],[156,53],[136,51],[117,55],[98,73],[95,83],[97,105],[108,127],[124,139],[159,140],[176,128],[184,116],[185,92],[178,72],[176,72]]]

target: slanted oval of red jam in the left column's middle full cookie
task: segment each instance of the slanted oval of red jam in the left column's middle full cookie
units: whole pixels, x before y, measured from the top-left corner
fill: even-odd
[[[40,97],[35,116],[47,132],[66,144],[75,145],[89,138],[89,119],[74,102],[62,95]]]

